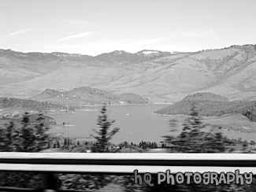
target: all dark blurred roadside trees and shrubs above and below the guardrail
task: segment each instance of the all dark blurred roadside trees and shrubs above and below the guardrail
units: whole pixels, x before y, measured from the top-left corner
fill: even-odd
[[[145,153],[150,149],[164,148],[169,153],[255,153],[255,142],[224,137],[218,129],[207,131],[208,124],[202,122],[195,108],[191,108],[190,116],[184,120],[180,135],[165,135],[161,144],[154,141],[129,143],[122,142],[118,146],[111,143],[111,138],[118,134],[119,128],[114,127],[114,120],[107,116],[106,105],[98,116],[98,129],[95,130],[95,142],[82,142],[76,138],[60,138],[47,134],[54,120],[42,113],[24,113],[23,116],[9,117],[1,120],[0,151],[39,152],[57,148],[62,152],[72,153]],[[170,127],[176,127],[176,120],[170,120]],[[221,127],[220,127],[221,129]],[[43,174],[1,172],[0,186],[17,186],[24,188],[44,188],[47,177]],[[109,183],[120,186],[123,191],[254,191],[250,186],[219,185],[162,185],[135,186],[130,175],[77,175],[59,174],[59,188],[72,190],[97,190]],[[254,181],[255,183],[255,181]],[[157,188],[156,188],[157,187]]]

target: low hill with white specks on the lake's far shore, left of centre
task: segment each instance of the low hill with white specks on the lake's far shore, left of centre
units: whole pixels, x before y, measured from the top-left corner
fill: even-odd
[[[51,102],[72,105],[102,104],[148,104],[149,101],[136,94],[113,94],[106,90],[91,87],[78,87],[68,91],[46,89],[32,97],[39,102]]]

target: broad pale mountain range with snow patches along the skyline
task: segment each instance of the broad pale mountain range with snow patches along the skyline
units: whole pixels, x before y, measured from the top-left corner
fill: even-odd
[[[198,92],[254,100],[256,46],[191,53],[116,50],[95,57],[0,50],[0,97],[32,98],[46,89],[76,87],[139,94],[152,102],[178,102]]]

